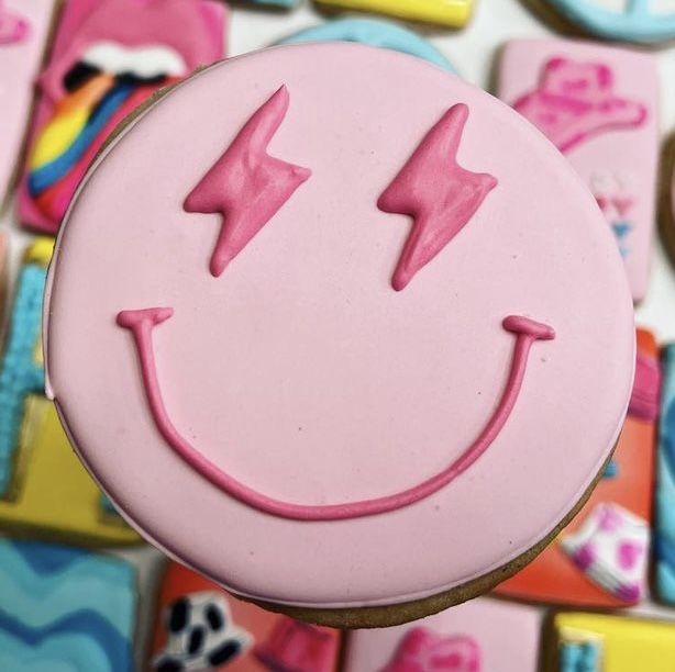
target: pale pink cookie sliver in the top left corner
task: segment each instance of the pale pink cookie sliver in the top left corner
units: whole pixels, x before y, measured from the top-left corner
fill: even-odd
[[[18,168],[54,0],[0,0],[0,204]]]

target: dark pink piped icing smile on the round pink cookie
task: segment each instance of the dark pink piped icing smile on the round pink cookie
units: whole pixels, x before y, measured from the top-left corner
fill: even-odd
[[[170,307],[150,307],[122,311],[117,317],[118,325],[130,329],[134,337],[147,403],[159,434],[178,457],[215,488],[247,506],[295,520],[345,520],[384,514],[424,500],[451,483],[485,453],[507,423],[522,388],[532,344],[555,338],[554,329],[546,324],[517,315],[504,320],[502,327],[516,335],[516,344],[502,396],[478,438],[446,469],[391,495],[343,504],[308,505],[281,502],[241,483],[206,458],[176,429],[162,397],[152,341],[153,329],[173,314]]]

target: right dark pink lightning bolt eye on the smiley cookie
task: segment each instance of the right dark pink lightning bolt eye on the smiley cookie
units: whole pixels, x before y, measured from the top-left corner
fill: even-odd
[[[391,278],[396,291],[405,289],[462,231],[497,186],[491,175],[472,172],[457,164],[467,119],[465,104],[452,107],[424,136],[377,201],[383,212],[413,219]]]

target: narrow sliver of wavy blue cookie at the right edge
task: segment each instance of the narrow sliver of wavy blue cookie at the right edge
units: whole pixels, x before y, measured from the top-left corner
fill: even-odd
[[[675,604],[675,345],[663,349],[654,560],[656,591]]]

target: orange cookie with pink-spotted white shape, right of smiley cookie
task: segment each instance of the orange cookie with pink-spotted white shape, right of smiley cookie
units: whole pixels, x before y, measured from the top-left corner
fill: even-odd
[[[638,368],[610,468],[556,541],[496,593],[588,607],[621,607],[646,592],[659,412],[659,350],[638,331]]]

